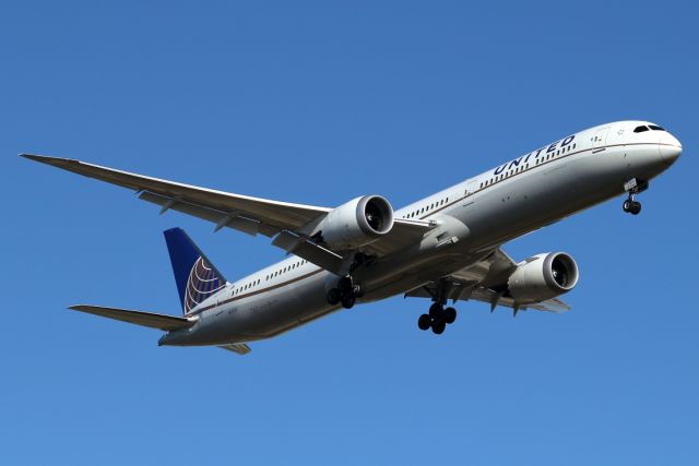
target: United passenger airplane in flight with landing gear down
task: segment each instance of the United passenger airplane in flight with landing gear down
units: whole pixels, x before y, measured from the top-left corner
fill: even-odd
[[[108,183],[139,199],[215,225],[272,238],[287,258],[228,282],[180,228],[164,232],[181,315],[79,304],[70,309],[166,332],[159,345],[217,346],[248,354],[340,309],[403,294],[431,301],[423,331],[445,332],[453,304],[476,300],[564,312],[559,297],[578,283],[565,252],[513,261],[506,242],[626,193],[637,195],[682,154],[670,132],[648,121],[617,121],[573,133],[394,211],[380,195],[337,207],[293,204],[120,171],[80,160],[20,154]],[[449,306],[451,301],[452,306]]]

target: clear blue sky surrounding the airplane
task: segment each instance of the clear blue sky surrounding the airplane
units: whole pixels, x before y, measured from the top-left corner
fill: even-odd
[[[2,464],[699,464],[692,2],[3,2]],[[401,206],[562,135],[648,119],[684,144],[641,195],[506,247],[564,250],[573,311],[423,300],[253,345],[158,348],[73,313],[177,313],[162,231],[229,277],[269,240],[29,163],[73,157],[238,193]]]

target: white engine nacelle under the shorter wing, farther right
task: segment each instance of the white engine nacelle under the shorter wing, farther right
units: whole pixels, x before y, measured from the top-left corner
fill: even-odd
[[[570,291],[578,284],[578,264],[565,252],[537,254],[518,265],[507,287],[520,304],[545,301]]]

